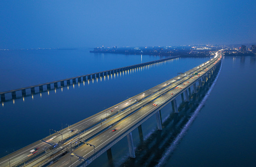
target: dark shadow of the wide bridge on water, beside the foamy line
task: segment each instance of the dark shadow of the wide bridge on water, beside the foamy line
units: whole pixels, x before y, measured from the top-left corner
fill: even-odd
[[[219,71],[219,67],[217,69]],[[140,142],[135,149],[136,158],[126,158],[120,164],[113,164],[109,160],[109,167],[154,167],[165,155],[167,148],[172,146],[176,137],[181,133],[183,127],[190,120],[192,114],[199,106],[218,73],[212,75],[202,86],[197,86],[197,93],[192,93],[189,89],[189,102],[186,102],[182,96],[182,101],[178,107],[178,113],[170,113],[162,121],[162,131],[155,129],[146,138],[143,138],[139,129]],[[173,105],[172,105],[173,106]],[[143,124],[142,124],[143,126]],[[168,159],[167,157],[166,159]]]

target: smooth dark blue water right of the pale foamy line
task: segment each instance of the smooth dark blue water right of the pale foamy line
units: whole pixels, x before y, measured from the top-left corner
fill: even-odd
[[[256,57],[225,57],[204,108],[165,167],[255,167]]]

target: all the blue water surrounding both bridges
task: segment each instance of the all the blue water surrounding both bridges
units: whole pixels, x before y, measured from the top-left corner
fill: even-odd
[[[12,54],[8,53],[8,57],[7,53],[4,53],[5,56],[1,54],[0,77],[5,76],[4,80],[0,81],[1,91],[19,88],[19,83],[29,86],[159,59],[159,57],[143,55],[141,61],[140,55],[94,55],[86,51],[88,49],[39,51],[42,53],[38,53],[40,55],[38,60],[32,59],[37,55],[34,51],[27,51],[29,54],[13,51]],[[21,70],[10,66],[16,62],[15,65],[21,68],[22,65],[19,65],[18,61],[21,61],[22,57],[26,57],[26,61],[23,62],[27,64],[22,71],[25,79],[19,77]],[[43,69],[41,70],[36,64],[42,64],[40,62],[45,59],[47,61],[40,66]],[[123,59],[126,61],[122,61]],[[50,60],[55,63],[47,63]],[[94,63],[88,63],[88,60],[93,60],[91,62]],[[207,60],[209,59],[181,58],[141,71],[112,76],[112,79],[109,77],[102,81],[94,80],[93,83],[75,84],[63,89],[58,88],[56,92],[50,90],[35,94],[33,97],[26,96],[24,100],[18,98],[14,102],[12,100],[4,102],[3,107],[0,107],[0,127],[2,127],[0,134],[6,137],[0,138],[0,143],[5,143],[0,145],[0,156],[4,156],[5,151],[12,152],[13,149],[17,150],[40,140],[49,134],[49,129],[60,130],[61,124],[66,127],[68,124],[80,121]],[[29,64],[34,70],[30,70]],[[44,67],[46,65],[47,68]],[[7,74],[18,78],[8,78]],[[16,82],[16,79],[19,81]],[[234,59],[226,57],[219,79],[205,106],[178,147],[170,157],[166,157],[163,166],[255,166],[255,82],[255,57]],[[190,119],[205,93],[206,91],[200,91],[192,96],[189,104],[183,103],[179,97],[178,116],[172,113],[171,104],[164,107],[161,110],[162,132],[156,131],[155,117],[142,124],[142,135],[135,129],[132,135],[136,147],[136,159],[128,157],[127,139],[124,138],[111,148],[112,161],[108,160],[107,153],[104,153],[90,166],[156,166]]]

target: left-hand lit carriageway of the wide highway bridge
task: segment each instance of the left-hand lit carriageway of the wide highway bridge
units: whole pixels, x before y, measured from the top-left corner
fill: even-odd
[[[198,70],[197,67],[194,68],[194,69],[191,69],[190,71],[188,71],[188,72],[186,72],[186,73],[187,73],[187,75],[188,75],[188,74],[190,75],[190,74],[192,74],[193,72],[195,72],[196,70]],[[169,81],[167,81],[167,82],[165,82],[165,83],[162,83],[162,84],[160,84],[160,85],[158,85],[158,86],[155,86],[155,87],[153,87],[153,88],[151,88],[151,89],[149,89],[149,90],[146,90],[145,92],[142,92],[142,93],[140,93],[140,94],[138,94],[138,95],[136,95],[136,96],[134,96],[134,97],[128,99],[127,101],[123,101],[123,102],[121,102],[121,103],[119,103],[119,104],[117,104],[117,105],[115,105],[115,106],[112,106],[112,107],[110,107],[110,108],[108,108],[108,109],[106,109],[106,110],[104,110],[104,111],[102,111],[102,112],[100,112],[100,113],[97,113],[97,114],[95,114],[95,115],[93,115],[93,116],[91,116],[91,117],[89,117],[89,118],[86,118],[86,119],[84,119],[84,120],[82,120],[82,121],[80,121],[80,122],[78,122],[78,123],[76,123],[76,124],[74,124],[74,125],[71,125],[71,126],[69,127],[69,129],[67,129],[67,128],[66,128],[66,129],[63,129],[63,130],[61,131],[61,133],[62,133],[62,135],[63,135],[63,139],[66,139],[66,138],[68,138],[69,136],[74,136],[74,134],[76,134],[76,131],[83,131],[84,129],[87,129],[87,128],[89,128],[89,127],[95,125],[95,122],[99,122],[100,119],[104,119],[104,118],[106,118],[106,116],[112,115],[112,113],[114,114],[114,113],[117,112],[118,109],[120,109],[120,108],[125,108],[125,107],[127,107],[127,106],[129,105],[129,103],[131,103],[131,104],[134,104],[134,103],[135,103],[135,104],[136,104],[136,103],[137,103],[137,102],[135,101],[136,99],[137,99],[137,101],[138,101],[138,100],[140,100],[140,99],[142,99],[142,98],[144,98],[144,97],[147,97],[147,96],[149,96],[149,95],[155,93],[155,92],[158,91],[159,89],[161,89],[161,88],[163,88],[163,87],[166,87],[166,86],[168,86],[169,84],[175,83],[176,81],[181,80],[182,77],[184,77],[184,75],[177,76],[177,77],[175,77],[174,79],[171,79],[171,80],[169,80]],[[135,99],[135,100],[134,100],[134,99]],[[131,100],[131,101],[129,101],[129,100]],[[127,103],[128,103],[128,104],[127,104]],[[138,103],[137,103],[137,104],[138,104]],[[109,111],[112,111],[112,112],[109,113]],[[105,114],[106,114],[106,115],[105,115]],[[70,133],[70,130],[74,130],[74,131]],[[54,137],[54,136],[55,136],[55,138],[51,139],[51,138]],[[51,139],[51,140],[50,140],[50,139]],[[46,138],[43,139],[43,140],[48,141],[48,142],[53,143],[53,144],[54,144],[54,143],[58,143],[58,141],[61,141],[61,135],[55,133],[54,135],[51,135],[51,136],[49,136],[49,137],[46,137]],[[49,141],[49,140],[50,140],[50,141]],[[42,142],[38,141],[38,142],[36,142],[36,143],[34,143],[34,144],[32,144],[32,145],[29,145],[29,146],[30,146],[30,147],[28,147],[28,149],[25,149],[25,151],[20,150],[20,151],[16,152],[15,154],[13,154],[13,156],[10,157],[10,163],[11,163],[11,165],[13,165],[13,164],[15,164],[15,163],[17,163],[17,162],[25,161],[26,159],[28,159],[27,156],[28,156],[29,154],[31,154],[31,153],[29,152],[29,150],[32,150],[32,149],[34,149],[34,148],[37,148],[37,146],[39,147],[39,149],[37,150],[37,153],[34,154],[34,155],[32,155],[32,156],[30,156],[30,157],[34,157],[34,156],[36,156],[37,154],[40,154],[41,152],[43,152],[43,149],[42,149],[42,148],[48,147],[49,145],[46,144],[46,143],[42,143]],[[22,155],[21,153],[23,153],[23,155]],[[21,155],[20,155],[20,154],[21,154]],[[4,159],[3,161],[2,161],[2,159],[1,159],[1,161],[0,161],[0,166],[1,166],[1,165],[3,165],[3,166],[8,166],[8,158],[7,158],[7,157],[5,157],[5,159]]]

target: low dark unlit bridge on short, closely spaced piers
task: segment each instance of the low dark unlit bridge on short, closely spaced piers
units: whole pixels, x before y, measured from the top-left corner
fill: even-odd
[[[141,63],[141,64],[137,64],[137,65],[132,65],[132,66],[127,66],[127,67],[107,70],[107,71],[103,71],[103,72],[97,72],[97,73],[87,74],[87,75],[83,75],[83,76],[73,77],[73,78],[69,78],[69,79],[64,79],[64,80],[59,80],[59,81],[54,81],[54,82],[49,82],[49,83],[42,83],[42,84],[37,84],[37,85],[33,85],[33,86],[22,87],[22,88],[18,88],[18,89],[14,89],[14,90],[4,91],[4,92],[0,92],[0,100],[1,100],[1,102],[5,101],[5,94],[11,94],[11,98],[16,99],[17,92],[20,92],[22,96],[26,96],[27,93],[35,94],[37,92],[37,90],[39,92],[43,92],[44,90],[50,90],[51,88],[69,86],[71,84],[75,84],[76,82],[77,83],[86,82],[86,81],[89,81],[92,79],[98,79],[100,77],[125,72],[128,70],[140,68],[143,66],[148,66],[151,64],[159,63],[159,62],[164,62],[164,61],[171,60],[171,59],[176,59],[178,57],[179,56],[174,56],[174,57],[170,57],[170,58],[166,58],[166,59],[159,59],[159,60]]]

